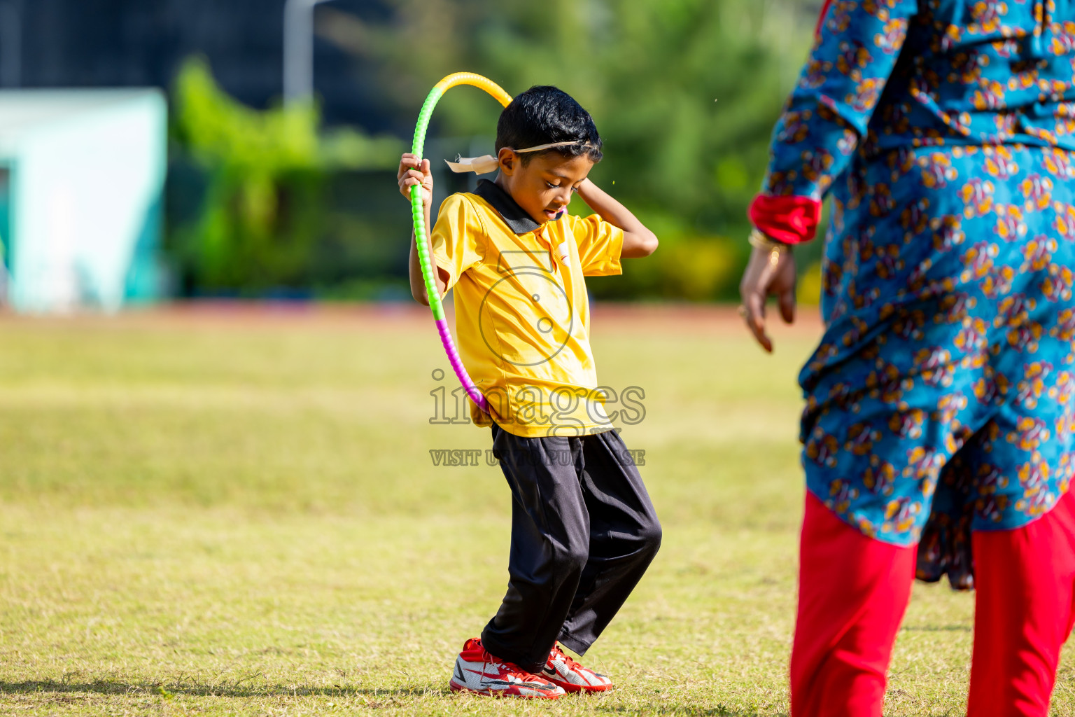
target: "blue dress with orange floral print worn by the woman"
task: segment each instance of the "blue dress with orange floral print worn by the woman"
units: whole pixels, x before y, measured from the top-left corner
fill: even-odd
[[[1075,0],[835,0],[763,191],[822,199],[808,490],[972,582],[1075,471]]]

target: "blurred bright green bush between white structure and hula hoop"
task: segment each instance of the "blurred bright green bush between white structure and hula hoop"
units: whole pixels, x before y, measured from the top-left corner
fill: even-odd
[[[328,173],[395,167],[403,147],[349,129],[321,135],[314,104],[252,110],[199,58],[181,70],[174,100],[173,154],[205,177],[195,218],[168,242],[195,292],[309,289],[319,278]]]

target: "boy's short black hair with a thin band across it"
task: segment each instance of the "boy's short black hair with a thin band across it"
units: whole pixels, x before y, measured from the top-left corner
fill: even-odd
[[[517,95],[500,113],[497,120],[497,152],[503,147],[526,149],[554,142],[572,142],[554,149],[520,154],[522,164],[547,152],[558,152],[565,157],[587,155],[601,161],[601,135],[590,113],[562,89],[551,85],[538,85]]]

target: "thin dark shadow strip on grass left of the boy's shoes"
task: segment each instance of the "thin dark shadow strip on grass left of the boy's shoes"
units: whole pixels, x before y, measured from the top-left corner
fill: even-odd
[[[166,684],[139,683],[130,684],[98,679],[92,683],[57,682],[47,679],[41,682],[0,683],[0,694],[35,694],[35,693],[71,693],[92,692],[97,694],[134,694],[140,697],[170,698],[175,694],[196,697],[366,697],[366,698],[399,698],[399,697],[446,697],[452,692],[446,688],[414,686],[396,689],[360,688],[347,686],[333,687],[288,687],[286,685],[266,685],[264,687],[244,687],[242,683],[256,679],[254,674],[245,679],[220,683],[218,685],[200,684]]]

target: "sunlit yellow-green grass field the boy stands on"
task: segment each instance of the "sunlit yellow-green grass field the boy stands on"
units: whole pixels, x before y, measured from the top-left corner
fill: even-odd
[[[489,438],[430,425],[455,386],[424,314],[0,318],[0,714],[786,715],[815,338],[765,357],[727,313],[599,311],[664,544],[586,657],[619,688],[530,704],[447,691],[506,585],[508,492],[432,463]],[[963,714],[972,614],[916,587],[886,714]]]

